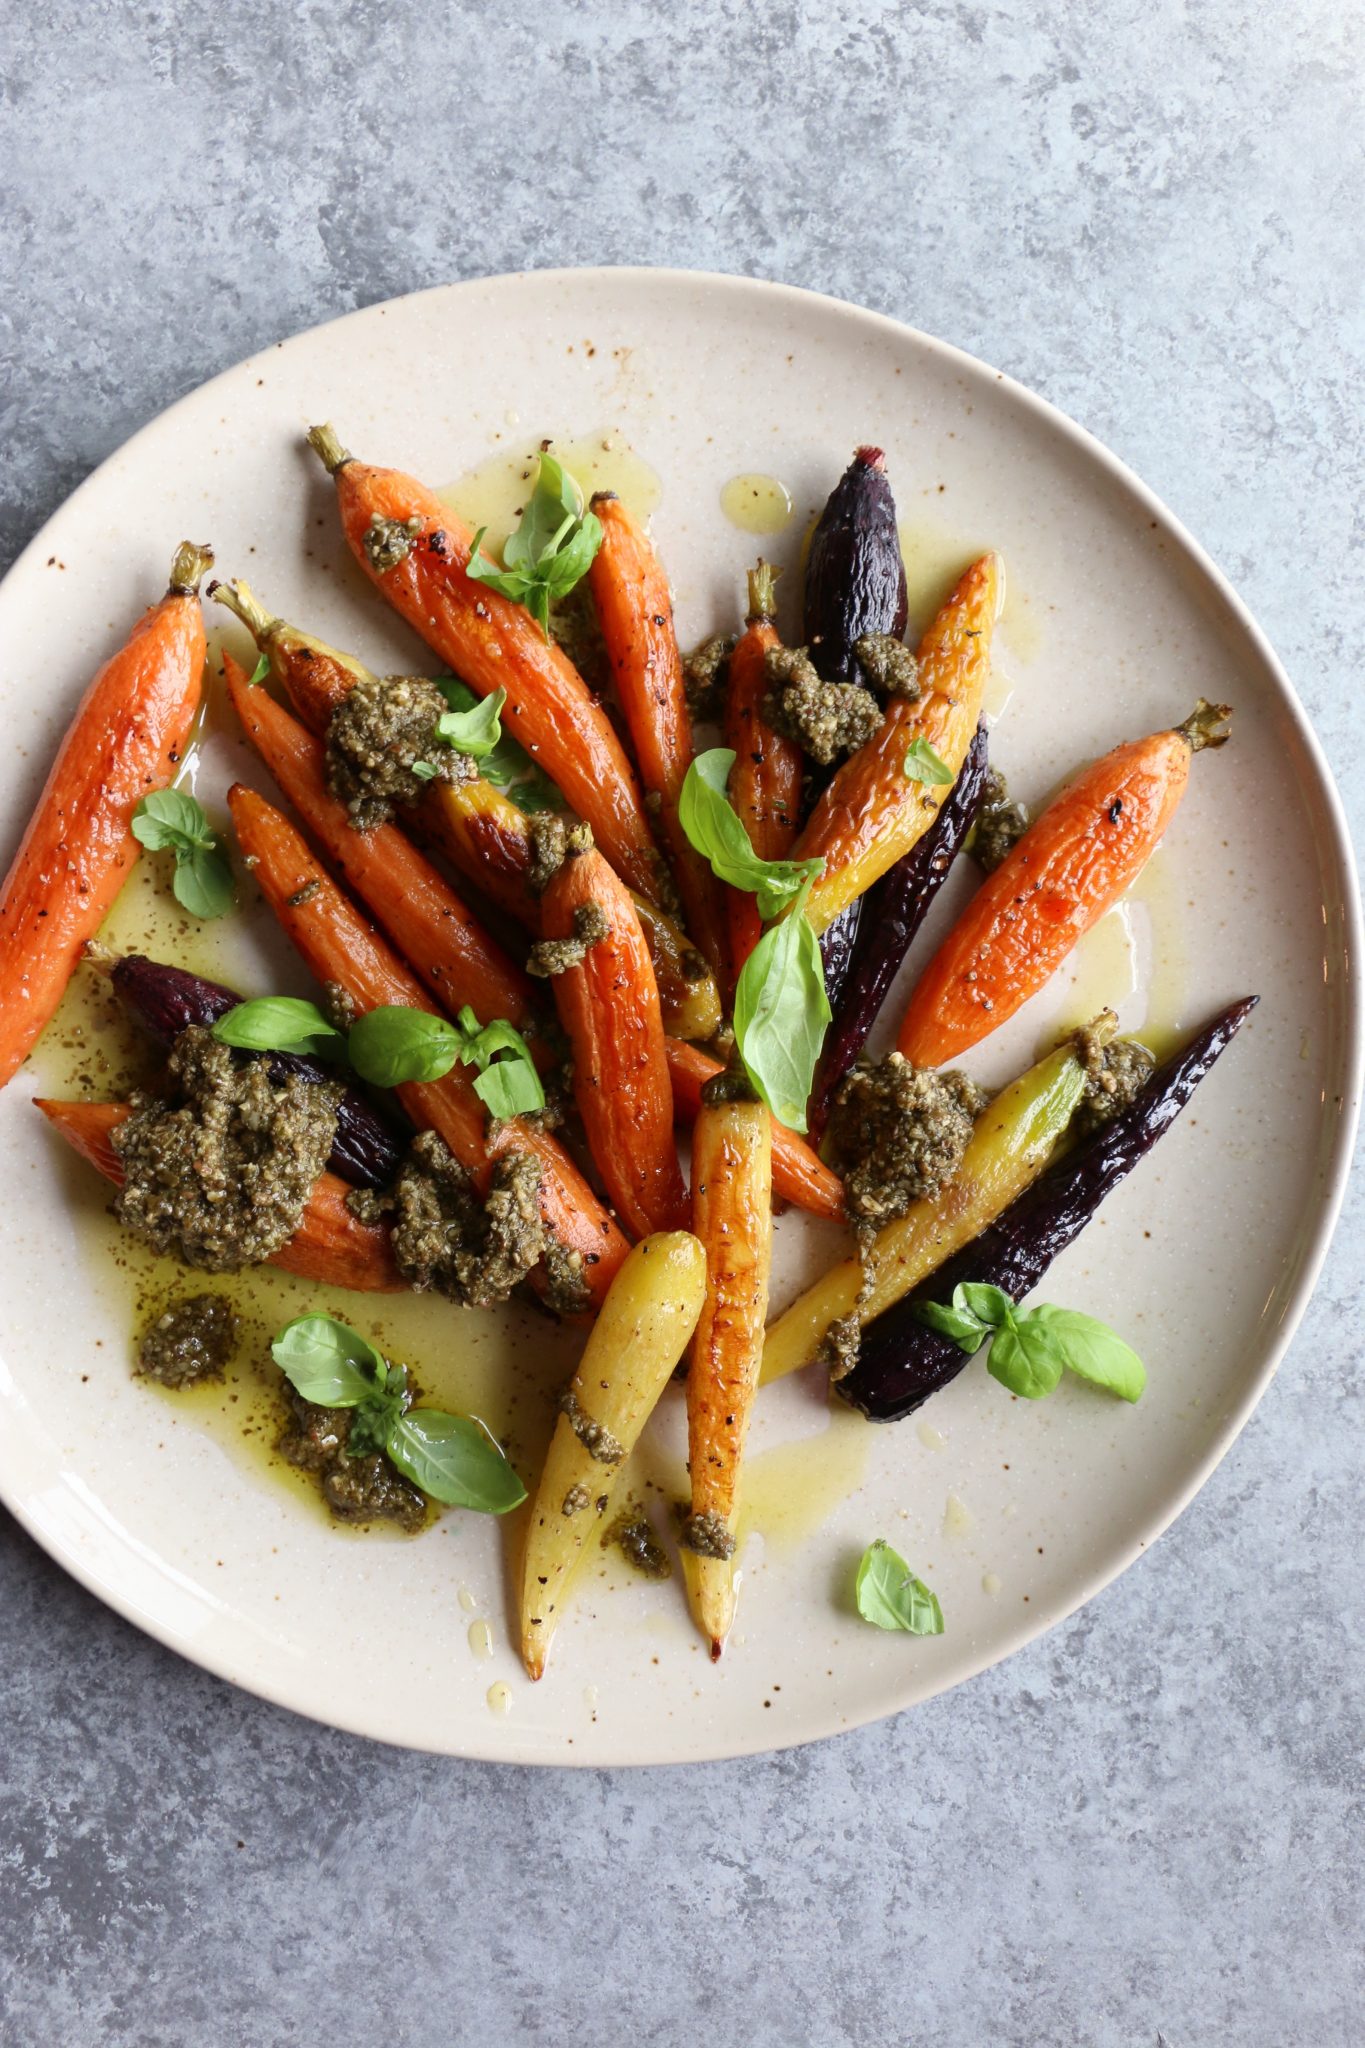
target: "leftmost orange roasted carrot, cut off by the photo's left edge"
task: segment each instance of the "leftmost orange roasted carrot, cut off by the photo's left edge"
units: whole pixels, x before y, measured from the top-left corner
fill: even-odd
[[[199,709],[213,561],[182,541],[170,588],[86,690],[0,885],[0,1087],[29,1057],[137,860],[141,797],[176,772]]]

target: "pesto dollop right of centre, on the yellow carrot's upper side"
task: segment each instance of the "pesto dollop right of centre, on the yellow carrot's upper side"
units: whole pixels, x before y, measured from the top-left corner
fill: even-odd
[[[888,1053],[853,1067],[829,1116],[829,1163],[855,1223],[890,1223],[933,1200],[962,1165],[984,1092],[966,1073],[913,1067]]]

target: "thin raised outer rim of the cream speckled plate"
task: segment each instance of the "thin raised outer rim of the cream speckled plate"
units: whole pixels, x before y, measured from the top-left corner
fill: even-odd
[[[1205,1454],[1191,1462],[1191,1468],[1185,1475],[1185,1483],[1173,1491],[1164,1507],[1144,1526],[1142,1534],[1134,1536],[1124,1548],[1111,1552],[1105,1559],[1105,1563],[1097,1567],[1081,1583],[1074,1597],[1058,1599],[1048,1608],[1040,1608],[1036,1614],[1029,1616],[1027,1622],[1019,1622],[1005,1636],[997,1636],[993,1647],[976,1661],[972,1661],[966,1669],[958,1669],[943,1683],[929,1683],[923,1690],[915,1690],[913,1700],[907,1700],[905,1708],[892,1710],[892,1712],[905,1712],[911,1706],[919,1706],[925,1700],[935,1698],[939,1692],[948,1692],[956,1686],[970,1681],[972,1677],[978,1677],[982,1671],[990,1669],[997,1663],[1003,1663],[1007,1657],[1013,1657],[1013,1653],[1023,1649],[1025,1642],[1036,1640],[1050,1628],[1056,1628],[1060,1622],[1064,1622],[1070,1614],[1087,1606],[1097,1593],[1101,1593],[1124,1571],[1128,1571],[1128,1567],[1136,1563],[1138,1556],[1146,1554],[1156,1542],[1156,1538],[1162,1536],[1171,1528],[1171,1524],[1185,1511],[1195,1493],[1199,1493],[1199,1489],[1205,1485],[1214,1468],[1222,1462],[1230,1446],[1242,1434],[1246,1421],[1250,1419],[1252,1409],[1267,1391],[1271,1378],[1275,1376],[1297,1331],[1308,1300],[1312,1298],[1312,1292],[1318,1284],[1322,1262],[1326,1257],[1328,1245],[1332,1241],[1332,1231],[1336,1229],[1336,1221],[1340,1217],[1340,1206],[1345,1200],[1347,1180],[1351,1174],[1351,1159],[1359,1124],[1361,1090],[1365,1081],[1365,1006],[1361,999],[1361,954],[1365,946],[1365,926],[1361,918],[1361,885],[1355,864],[1355,852],[1351,846],[1351,834],[1347,829],[1345,809],[1340,803],[1340,795],[1336,791],[1336,782],[1332,778],[1332,770],[1326,762],[1326,756],[1312,727],[1312,721],[1308,719],[1308,713],[1300,702],[1293,682],[1289,680],[1289,674],[1285,672],[1283,664],[1279,662],[1275,649],[1271,647],[1267,635],[1259,627],[1248,606],[1242,602],[1234,586],[1228,582],[1228,578],[1212,559],[1212,555],[1199,545],[1199,541],[1195,541],[1193,535],[1183,526],[1183,522],[1164,506],[1164,502],[1156,498],[1152,489],[1148,489],[1148,485],[1142,481],[1142,477],[1136,475],[1136,471],[1132,471],[1124,461],[1119,461],[1117,455],[1113,455],[1101,440],[1097,440],[1095,434],[1091,434],[1087,428],[1074,422],[1050,399],[1040,397],[1027,385],[1009,377],[1005,371],[997,371],[980,356],[972,356],[966,350],[956,348],[952,342],[941,342],[937,340],[937,336],[925,334],[921,328],[913,328],[907,322],[892,319],[886,313],[874,313],[868,307],[862,307],[847,299],[837,299],[829,293],[814,293],[798,285],[747,276],[741,272],[655,268],[645,264],[600,264],[600,266],[587,264],[587,266],[567,266],[567,268],[551,266],[544,270],[516,270],[516,272],[501,272],[495,276],[460,279],[458,283],[450,285],[434,285],[420,293],[403,293],[397,299],[377,301],[372,305],[356,309],[354,313],[344,313],[332,322],[319,322],[317,326],[305,328],[301,334],[295,334],[287,342],[274,346],[293,352],[297,348],[307,348],[309,342],[321,332],[346,326],[358,330],[366,324],[375,324],[383,319],[393,307],[403,305],[407,301],[432,301],[432,299],[454,301],[463,293],[469,295],[487,293],[489,289],[495,289],[499,285],[526,283],[528,279],[536,279],[546,287],[555,287],[557,283],[567,285],[567,283],[587,283],[587,281],[593,283],[667,281],[671,285],[688,285],[694,291],[753,293],[753,297],[761,301],[763,307],[772,307],[774,311],[780,311],[782,307],[790,307],[792,311],[800,311],[802,307],[825,307],[825,309],[837,307],[843,317],[847,317],[853,326],[862,326],[862,330],[868,332],[870,336],[878,336],[882,340],[894,338],[913,344],[915,348],[921,348],[927,354],[937,356],[948,369],[968,373],[970,377],[988,377],[990,381],[1001,385],[1003,391],[1015,403],[1019,403],[1025,412],[1031,412],[1040,420],[1040,424],[1048,426],[1064,440],[1070,440],[1076,453],[1087,457],[1097,469],[1107,473],[1107,477],[1117,487],[1128,492],[1130,498],[1146,510],[1148,518],[1152,518],[1158,524],[1162,537],[1169,543],[1173,543],[1175,549],[1179,549],[1187,565],[1197,573],[1197,578],[1205,584],[1205,588],[1214,592],[1214,596],[1232,616],[1236,627],[1246,635],[1252,653],[1263,664],[1267,678],[1279,692],[1283,709],[1289,713],[1289,719],[1295,727],[1295,735],[1304,748],[1304,756],[1308,760],[1308,766],[1316,782],[1314,795],[1320,807],[1320,823],[1326,827],[1320,844],[1324,848],[1324,854],[1330,854],[1330,864],[1334,868],[1332,879],[1338,887],[1338,911],[1345,936],[1345,961],[1340,977],[1340,987],[1345,991],[1345,1038],[1340,1047],[1340,1090],[1338,1090],[1340,1114],[1326,1155],[1322,1196],[1318,1202],[1312,1233],[1308,1235],[1302,1251],[1295,1288],[1283,1307],[1283,1315],[1279,1317],[1275,1333],[1265,1343],[1265,1352],[1257,1370],[1246,1376],[1240,1401],[1236,1401],[1228,1409],[1228,1415],[1220,1432],[1207,1446]],[[217,377],[211,377],[196,389],[186,391],[180,399],[176,399],[162,414],[158,414],[135,434],[131,434],[129,440],[125,440],[119,449],[115,449],[98,465],[98,469],[94,469],[61,502],[61,506],[57,506],[57,510],[43,522],[37,535],[20,551],[20,555],[10,565],[4,580],[0,580],[0,598],[4,596],[4,588],[12,578],[27,573],[35,557],[41,557],[51,551],[49,537],[57,526],[57,522],[65,516],[65,512],[72,506],[82,502],[88,494],[100,492],[104,475],[115,463],[121,463],[125,457],[133,457],[143,438],[149,438],[153,432],[166,426],[166,422],[174,420],[180,412],[188,412],[192,406],[203,403],[207,393],[229,387],[233,379],[241,375],[246,365],[258,360],[258,356],[270,344],[264,344],[262,348],[254,350],[252,356],[246,356],[231,369],[221,371]],[[323,1726],[336,1726],[342,1729],[344,1733],[364,1735],[370,1741],[385,1741],[395,1747],[424,1747],[420,1743],[407,1743],[403,1735],[395,1731],[385,1731],[383,1735],[377,1733],[372,1726],[366,1726],[360,1718],[348,1716],[344,1710],[344,1702],[338,1704],[336,1714],[332,1712],[325,1716],[315,1714],[309,1706],[301,1706],[297,1698],[291,1698],[287,1686],[270,1686],[258,1677],[246,1679],[241,1675],[241,1669],[235,1665],[231,1657],[194,1649],[182,1636],[178,1636],[174,1628],[162,1626],[160,1622],[143,1614],[131,1597],[119,1591],[117,1585],[111,1585],[104,1579],[100,1579],[98,1571],[88,1569],[76,1550],[63,1546],[51,1530],[43,1528],[39,1520],[31,1516],[23,1493],[18,1493],[10,1483],[6,1483],[6,1475],[2,1468],[0,1468],[0,1501],[8,1507],[14,1520],[27,1530],[27,1534],[33,1536],[33,1540],[41,1548],[45,1548],[49,1556],[53,1556],[53,1561],[61,1565],[63,1571],[68,1571],[80,1585],[84,1585],[86,1591],[94,1593],[104,1606],[113,1608],[117,1614],[133,1622],[145,1634],[153,1636],[153,1640],[186,1657],[190,1663],[201,1665],[215,1677],[227,1679],[233,1686],[241,1686],[246,1692],[256,1694],[256,1698],[268,1700],[272,1706],[289,1708],[291,1712],[303,1714],[305,1718],[315,1718]],[[769,1737],[765,1739],[755,1733],[755,1739],[739,1739],[739,1741],[733,1739],[716,1747],[714,1751],[708,1751],[706,1755],[694,1755],[690,1759],[665,1757],[663,1753],[657,1757],[636,1755],[630,1759],[622,1759],[622,1763],[618,1765],[608,1765],[608,1767],[634,1767],[634,1765],[651,1765],[663,1761],[704,1763],[704,1761],[724,1761],[729,1757],[743,1757],[743,1755],[767,1755],[780,1749],[802,1747],[804,1743],[810,1741],[825,1741],[833,1735],[847,1735],[853,1729],[884,1718],[890,1716],[882,1708],[874,1706],[868,1712],[857,1712],[857,1710],[849,1712],[847,1718],[843,1718],[837,1729],[827,1729],[814,1735],[810,1733],[792,1735],[790,1741],[782,1739],[772,1741]],[[546,1767],[546,1765],[548,1767],[559,1765],[571,1769],[604,1767],[596,1759],[589,1757],[575,1759],[571,1755],[569,1757],[557,1755],[544,1759],[508,1759],[493,1745],[479,1745],[479,1743],[463,1745],[458,1751],[450,1753],[456,1753],[469,1761],[497,1761],[497,1763],[518,1761],[524,1763],[526,1767]]]

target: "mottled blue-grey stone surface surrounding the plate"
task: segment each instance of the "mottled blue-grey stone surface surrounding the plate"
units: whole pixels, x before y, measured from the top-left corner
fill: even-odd
[[[1267,625],[1359,825],[1351,14],[8,8],[0,559],[170,399],[354,305],[559,262],[790,279],[1128,457]],[[0,1516],[0,2038],[1359,2042],[1363,1245],[1357,1196],[1250,1430],[1126,1579],[772,1761],[540,1776],[329,1735]]]

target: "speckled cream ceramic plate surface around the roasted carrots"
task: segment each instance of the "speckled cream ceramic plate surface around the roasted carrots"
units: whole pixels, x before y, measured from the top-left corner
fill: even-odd
[[[921,608],[974,549],[1005,555],[997,754],[1025,795],[1175,723],[1197,694],[1236,707],[1234,745],[1195,764],[1138,901],[972,1061],[1001,1079],[1101,999],[1121,999],[1126,1026],[1152,1006],[1171,1028],[1261,991],[1195,1106],[1048,1280],[1048,1298],[1138,1343],[1150,1391],[1138,1409],[1081,1384],[1029,1405],[974,1366],[921,1419],[874,1430],[831,1427],[802,1374],[761,1401],[763,1534],[745,1552],[722,1665],[690,1630],[677,1579],[645,1585],[606,1561],[530,1686],[512,1649],[510,1530],[448,1516],[415,1542],[336,1534],[233,1442],[231,1415],[131,1378],[131,1290],[111,1264],[104,1196],[29,1102],[59,1083],[53,1040],[0,1098],[0,1493],[141,1628],[385,1741],[530,1763],[681,1761],[810,1741],[954,1686],[1171,1522],[1246,1421],[1314,1284],[1359,1081],[1359,905],[1300,705],[1177,522],[984,365],[741,279],[508,276],[370,307],[239,365],[137,434],[43,528],[0,588],[2,858],[90,670],[182,535],[211,539],[221,573],[246,573],[276,610],[377,666],[420,662],[350,567],[303,451],[305,424],[327,416],[358,453],[434,483],[542,434],[610,430],[661,477],[655,537],[686,637],[735,621],[757,547],[722,514],[724,483],[753,471],[790,487],[796,518],[763,549],[794,563],[851,446],[878,440]],[[227,774],[270,786],[219,737],[199,764],[211,805]],[[145,903],[143,887],[123,907],[125,940]],[[291,973],[264,926],[237,920],[223,952],[258,989]],[[790,1292],[827,1245],[798,1219],[780,1235]],[[395,1321],[360,1296],[336,1307],[381,1327],[444,1395],[465,1391],[528,1442],[542,1427],[567,1358],[544,1323],[460,1321],[430,1303]],[[655,1444],[665,1483],[669,1438],[675,1450],[675,1421]],[[886,1636],[851,1614],[851,1563],[878,1534],[939,1593],[941,1638]],[[479,1620],[487,1657],[477,1626],[467,1640]],[[489,1706],[497,1686],[505,1712]]]

